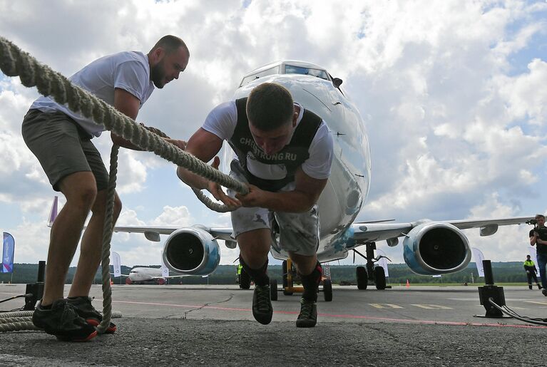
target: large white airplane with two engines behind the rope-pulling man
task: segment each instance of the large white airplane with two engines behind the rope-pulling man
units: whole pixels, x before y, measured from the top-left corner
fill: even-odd
[[[375,283],[377,289],[386,287],[384,270],[374,267],[376,242],[386,240],[389,246],[402,241],[404,261],[416,274],[438,275],[459,272],[471,261],[469,240],[462,229],[480,228],[481,236],[496,233],[500,225],[524,223],[531,217],[499,219],[442,220],[421,219],[416,222],[393,223],[390,220],[355,222],[367,200],[371,179],[369,141],[364,121],[355,105],[325,68],[302,61],[280,61],[267,64],[242,78],[234,99],[249,95],[260,83],[279,83],[285,86],[297,103],[316,113],[329,126],[334,138],[335,157],[332,174],[319,197],[320,242],[319,262],[344,259],[352,250],[367,259],[366,267],[357,268],[357,285],[366,289]],[[232,154],[224,150],[224,167],[229,167]],[[387,223],[389,222],[389,223]],[[227,247],[236,246],[231,228],[205,227],[115,227],[116,232],[140,232],[150,241],[159,241],[160,234],[168,235],[163,249],[163,262],[173,272],[185,275],[207,275],[220,262],[218,239]],[[364,246],[366,255],[357,251]],[[271,250],[275,259],[286,261],[286,252]],[[290,271],[283,263],[283,290],[292,293]],[[332,299],[329,279],[324,281],[325,300]],[[277,282],[272,281],[272,299],[277,299]]]

